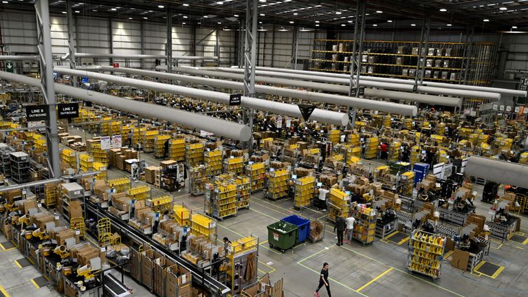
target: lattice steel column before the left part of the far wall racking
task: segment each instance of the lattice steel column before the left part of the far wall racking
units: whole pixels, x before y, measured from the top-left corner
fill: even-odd
[[[355,10],[354,39],[352,45],[352,63],[350,65],[350,90],[349,96],[360,96],[361,56],[363,53],[363,39],[365,34],[365,2],[358,0]],[[349,107],[349,126],[355,127],[355,108]]]

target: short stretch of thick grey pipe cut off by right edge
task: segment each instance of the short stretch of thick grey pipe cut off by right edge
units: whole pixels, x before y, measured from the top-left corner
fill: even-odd
[[[465,174],[500,184],[528,188],[528,166],[523,164],[472,155],[467,160]]]

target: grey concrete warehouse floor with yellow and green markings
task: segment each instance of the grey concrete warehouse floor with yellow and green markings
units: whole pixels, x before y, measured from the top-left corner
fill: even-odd
[[[74,131],[70,131],[72,133]],[[77,134],[77,133],[76,133]],[[83,131],[79,131],[83,135]],[[83,135],[84,136],[84,135]],[[91,137],[91,135],[88,135]],[[159,163],[151,155],[142,154],[149,165]],[[371,161],[369,161],[371,162]],[[374,162],[373,162],[374,163]],[[109,170],[109,178],[129,176],[120,170]],[[143,184],[142,181],[138,183]],[[165,195],[166,191],[152,188],[152,196]],[[475,186],[482,192],[482,186]],[[184,202],[193,212],[203,212],[203,196],[192,197],[186,190],[170,193],[175,202]],[[358,242],[336,245],[333,224],[325,228],[325,239],[318,243],[304,243],[284,254],[270,249],[267,245],[267,225],[287,217],[299,214],[292,208],[292,199],[269,201],[263,199],[262,192],[252,195],[249,210],[241,210],[236,217],[230,217],[218,223],[218,237],[228,236],[236,240],[241,236],[254,234],[259,236],[259,275],[270,274],[272,281],[284,278],[285,296],[313,296],[318,285],[318,276],[322,263],[329,263],[330,287],[333,296],[528,296],[528,246],[507,241],[492,242],[487,261],[501,265],[504,270],[496,278],[478,276],[463,272],[450,266],[449,259],[441,267],[441,276],[437,281],[409,274],[406,270],[407,244],[383,242],[376,238],[373,245],[362,246]],[[477,212],[487,215],[489,204],[477,201]],[[318,217],[324,221],[325,213],[305,210],[303,215]],[[526,218],[522,220],[522,232],[528,235]],[[524,234],[524,233],[522,233]],[[10,296],[57,296],[47,288],[36,289],[29,279],[39,276],[34,267],[20,270],[13,263],[21,258],[18,250],[0,251],[0,285]],[[22,283],[21,283],[22,282]],[[134,290],[133,296],[150,296],[148,291],[129,278],[125,284]],[[321,296],[327,296],[325,289]]]

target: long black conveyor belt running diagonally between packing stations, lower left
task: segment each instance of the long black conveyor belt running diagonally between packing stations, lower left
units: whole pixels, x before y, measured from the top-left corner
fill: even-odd
[[[100,214],[102,214],[103,217],[109,218],[113,227],[118,228],[119,230],[124,232],[126,236],[132,236],[133,238],[139,240],[139,243],[148,243],[153,249],[157,250],[161,254],[164,254],[166,258],[170,259],[170,261],[173,261],[174,263],[177,263],[178,265],[184,267],[192,274],[192,282],[203,286],[204,289],[208,289],[212,296],[223,297],[226,296],[226,294],[228,294],[229,292],[231,292],[231,290],[223,283],[220,283],[211,276],[204,274],[195,265],[192,265],[185,259],[181,259],[179,256],[176,256],[172,251],[168,250],[168,248],[157,243],[157,241],[151,239],[150,237],[145,236],[138,230],[135,230],[131,225],[124,223],[121,219],[118,219],[113,214],[107,212],[107,210],[104,210],[100,206],[97,206],[96,204],[88,200],[86,201],[86,208],[87,211],[93,214],[99,212]]]

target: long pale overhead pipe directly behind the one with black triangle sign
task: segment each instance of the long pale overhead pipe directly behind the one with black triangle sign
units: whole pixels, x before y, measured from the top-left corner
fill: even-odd
[[[199,78],[195,76],[168,74],[165,72],[154,72],[133,68],[113,68],[109,66],[101,66],[103,71],[121,72],[125,74],[135,74],[146,77],[164,78],[168,80],[180,80],[186,83],[196,83],[201,85],[210,85],[212,87],[227,87],[230,89],[244,89],[243,83],[237,83],[230,80],[219,80],[214,78]],[[417,107],[414,105],[396,104],[392,102],[368,100],[361,98],[354,98],[348,96],[340,96],[333,94],[322,94],[311,91],[301,91],[296,89],[285,89],[280,87],[271,87],[267,85],[255,85],[255,91],[274,96],[287,96],[292,98],[325,102],[328,104],[338,104],[348,107],[355,107],[360,109],[371,109],[377,111],[384,111],[388,113],[395,113],[401,115],[415,116],[417,114]]]

